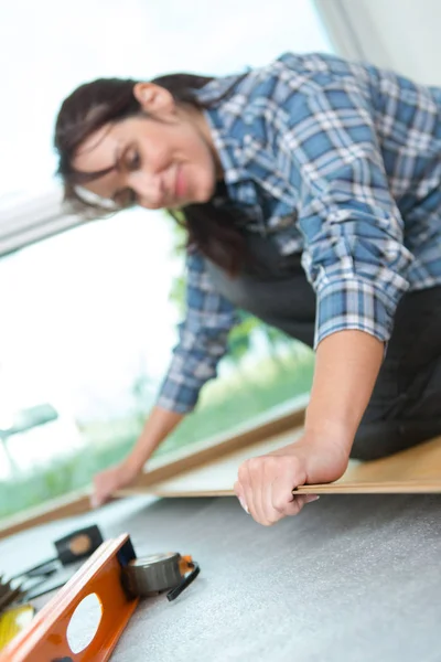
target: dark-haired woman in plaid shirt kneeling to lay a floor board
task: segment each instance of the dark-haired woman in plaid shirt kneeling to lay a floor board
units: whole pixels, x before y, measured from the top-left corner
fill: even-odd
[[[313,346],[301,440],[235,485],[269,525],[348,457],[440,434],[441,89],[335,56],[284,54],[244,75],[101,79],[60,111],[66,199],[97,216],[181,214],[187,313],[158,404],[95,503],[133,481],[215,376],[235,307]]]

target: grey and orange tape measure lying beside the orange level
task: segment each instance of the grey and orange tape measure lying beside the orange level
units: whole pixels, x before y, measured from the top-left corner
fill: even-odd
[[[133,597],[152,597],[164,590],[169,601],[197,577],[200,566],[191,556],[176,552],[131,559],[122,569],[122,584]]]

